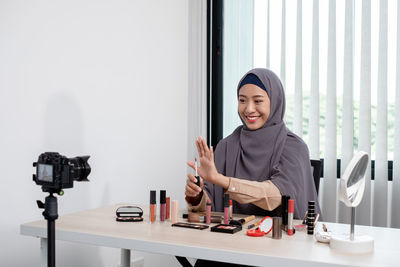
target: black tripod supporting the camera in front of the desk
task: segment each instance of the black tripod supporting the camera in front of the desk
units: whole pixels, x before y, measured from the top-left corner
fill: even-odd
[[[46,197],[45,203],[37,200],[39,209],[44,209],[43,216],[47,220],[47,267],[56,266],[56,225],[57,214],[57,198],[53,196],[54,192]]]

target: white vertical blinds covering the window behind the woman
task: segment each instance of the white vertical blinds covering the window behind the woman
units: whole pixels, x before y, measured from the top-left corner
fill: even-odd
[[[232,112],[236,82],[252,67],[271,68],[286,88],[292,109],[285,118],[288,127],[303,136],[311,158],[324,160],[319,192],[324,220],[349,221],[349,208],[337,199],[337,160],[340,176],[354,151],[362,150],[375,161],[374,180],[368,171],[356,223],[400,227],[400,118],[394,116],[400,112],[400,0],[297,0],[290,5],[285,0],[224,2],[224,136],[240,123]],[[389,11],[395,6],[393,20]],[[262,34],[259,21],[265,24]],[[397,36],[394,49],[391,35]],[[392,181],[388,160],[393,160]]]

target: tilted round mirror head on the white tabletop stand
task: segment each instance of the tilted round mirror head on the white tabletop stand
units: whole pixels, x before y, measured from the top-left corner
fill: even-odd
[[[358,152],[354,155],[340,179],[339,200],[348,207],[357,207],[362,200],[368,161],[367,153]]]

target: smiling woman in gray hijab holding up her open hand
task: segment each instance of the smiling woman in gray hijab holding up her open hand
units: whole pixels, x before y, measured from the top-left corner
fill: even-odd
[[[214,211],[223,211],[228,193],[234,213],[272,216],[279,215],[281,196],[289,195],[294,217],[303,218],[308,201],[317,202],[317,193],[307,145],[283,122],[285,95],[279,78],[270,70],[253,69],[240,80],[237,95],[243,125],[218,143],[215,155],[203,138],[196,140],[202,180],[199,187],[188,174],[186,201],[192,209],[204,210],[209,198]],[[188,165],[194,168],[193,162]]]

